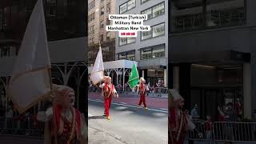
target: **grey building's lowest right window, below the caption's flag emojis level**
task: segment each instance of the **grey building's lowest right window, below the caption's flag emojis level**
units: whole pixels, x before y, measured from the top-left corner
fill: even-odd
[[[141,60],[150,58],[164,58],[165,44],[145,47],[141,49]]]

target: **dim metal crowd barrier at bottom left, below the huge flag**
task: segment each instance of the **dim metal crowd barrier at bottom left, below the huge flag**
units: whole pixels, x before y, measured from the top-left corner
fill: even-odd
[[[33,117],[0,118],[0,134],[17,134],[42,137],[44,122]]]

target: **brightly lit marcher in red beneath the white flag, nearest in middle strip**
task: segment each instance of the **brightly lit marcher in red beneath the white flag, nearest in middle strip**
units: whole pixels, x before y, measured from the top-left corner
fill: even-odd
[[[114,88],[114,85],[111,83],[111,78],[106,76],[104,78],[105,82],[102,84],[102,96],[104,97],[104,115],[108,120],[110,120],[110,105],[112,102],[112,97],[118,98],[118,93]]]

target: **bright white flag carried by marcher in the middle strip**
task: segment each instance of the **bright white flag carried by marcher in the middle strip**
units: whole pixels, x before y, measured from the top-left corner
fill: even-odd
[[[96,60],[94,62],[93,70],[91,71],[90,80],[93,82],[94,85],[101,82],[104,78],[104,66],[102,60],[102,47],[99,46],[98,54]]]

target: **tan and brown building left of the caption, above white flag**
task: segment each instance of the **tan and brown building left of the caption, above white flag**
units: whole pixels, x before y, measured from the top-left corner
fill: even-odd
[[[92,65],[98,53],[98,44],[102,44],[104,62],[114,61],[115,33],[106,31],[105,26],[110,25],[109,14],[115,14],[115,0],[88,1],[88,41],[89,64]]]

